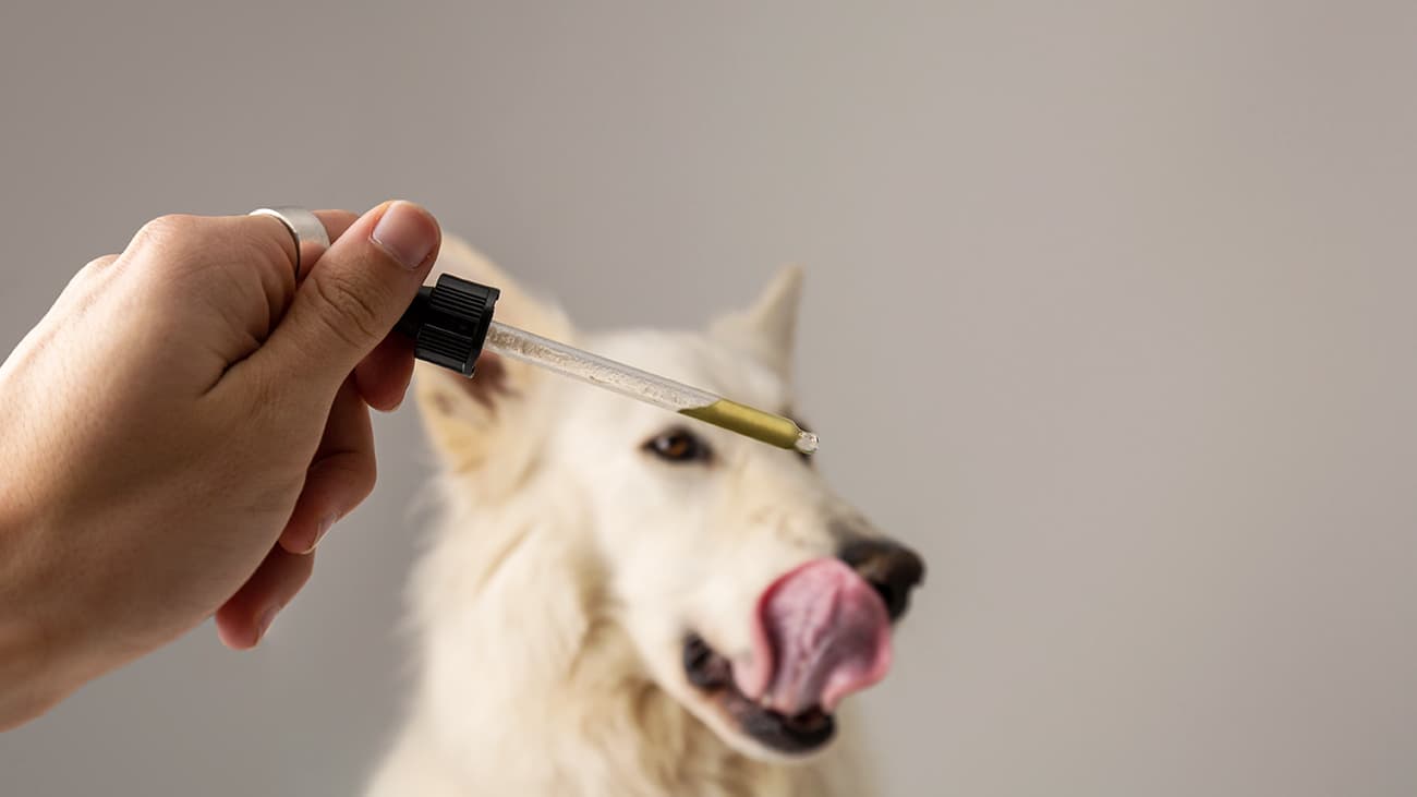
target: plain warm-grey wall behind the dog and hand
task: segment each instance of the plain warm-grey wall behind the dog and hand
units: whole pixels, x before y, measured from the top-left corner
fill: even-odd
[[[368,6],[6,0],[0,343],[166,211],[421,200],[589,326],[801,261],[822,467],[932,564],[887,794],[1417,793],[1417,7]],[[378,438],[265,647],[91,685],[0,793],[356,788],[429,472]]]

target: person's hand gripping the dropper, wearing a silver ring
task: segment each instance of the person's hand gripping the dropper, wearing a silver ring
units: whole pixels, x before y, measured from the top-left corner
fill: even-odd
[[[88,264],[0,366],[0,729],[213,613],[255,645],[374,486],[385,340],[436,257],[408,203],[319,214],[296,285],[269,217],[164,217]]]

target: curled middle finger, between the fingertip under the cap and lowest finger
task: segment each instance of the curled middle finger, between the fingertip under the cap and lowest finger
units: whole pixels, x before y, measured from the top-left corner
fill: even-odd
[[[330,407],[324,437],[306,472],[305,488],[281,532],[281,547],[290,553],[315,550],[330,526],[368,498],[376,478],[378,468],[368,407],[354,380],[349,379]]]

